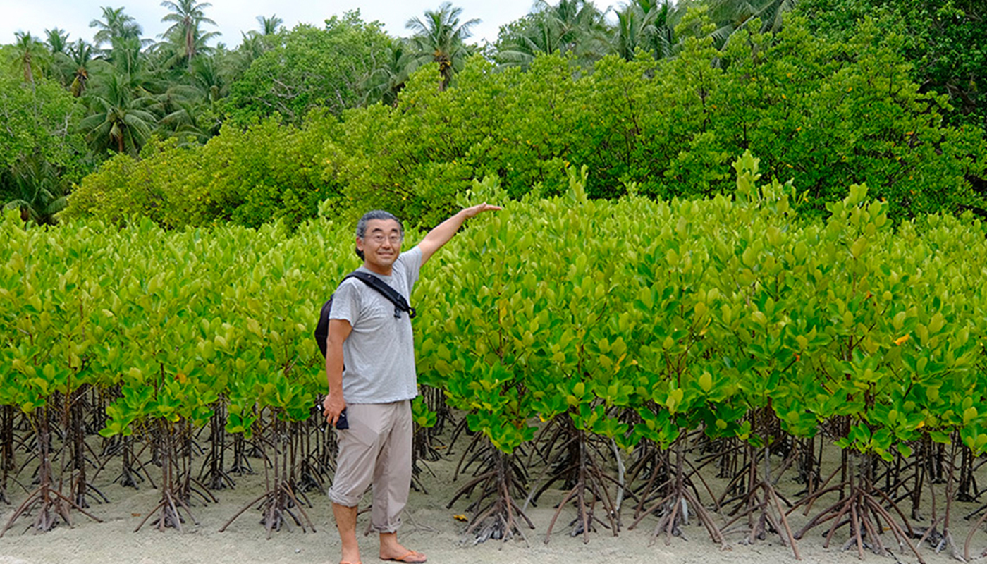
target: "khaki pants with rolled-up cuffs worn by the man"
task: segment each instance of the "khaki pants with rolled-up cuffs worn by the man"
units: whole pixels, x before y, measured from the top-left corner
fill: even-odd
[[[397,532],[412,486],[412,402],[348,404],[329,499],[356,507],[373,485],[371,528]]]

